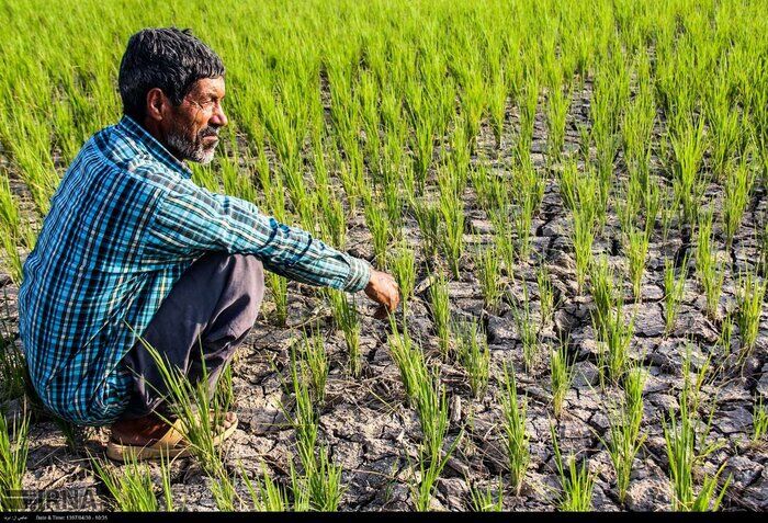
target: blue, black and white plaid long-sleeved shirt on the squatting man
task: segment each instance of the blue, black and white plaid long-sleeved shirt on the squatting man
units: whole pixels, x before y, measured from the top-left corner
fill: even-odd
[[[123,356],[184,270],[206,251],[257,255],[267,270],[348,292],[363,260],[212,193],[128,116],[91,137],[50,200],[24,262],[19,329],[33,385],[78,424],[113,422],[132,376]]]

